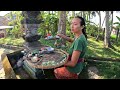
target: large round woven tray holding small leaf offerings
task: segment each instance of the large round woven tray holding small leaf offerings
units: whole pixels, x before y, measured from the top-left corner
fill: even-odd
[[[43,54],[43,57],[41,57],[38,62],[33,63],[31,60],[26,60],[26,62],[34,68],[52,69],[64,65],[64,63],[67,61],[67,58],[67,52],[61,49],[55,49],[54,53]]]

